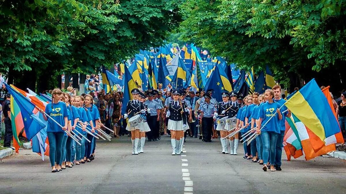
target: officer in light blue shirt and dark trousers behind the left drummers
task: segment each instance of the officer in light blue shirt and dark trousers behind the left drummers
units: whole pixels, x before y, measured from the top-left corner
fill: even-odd
[[[148,96],[153,96],[152,92],[147,93]],[[150,132],[147,133],[148,136],[148,141],[151,142],[156,141],[157,140],[157,126],[156,126],[156,119],[157,119],[157,110],[160,109],[159,105],[157,104],[157,102],[153,99],[153,100],[146,100],[144,102],[144,105],[148,108],[150,108],[150,110],[148,111],[148,115],[147,115],[147,122],[148,125],[150,127]]]

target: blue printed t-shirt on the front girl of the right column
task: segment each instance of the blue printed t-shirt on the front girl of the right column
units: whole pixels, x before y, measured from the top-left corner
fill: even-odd
[[[266,102],[261,106],[259,112],[260,118],[262,118],[261,127],[263,127],[261,131],[280,133],[280,120],[277,114],[275,114],[277,108],[280,108],[280,105],[279,103],[275,102]],[[273,114],[275,114],[274,117],[270,119]],[[269,119],[270,121],[266,125],[264,125]]]

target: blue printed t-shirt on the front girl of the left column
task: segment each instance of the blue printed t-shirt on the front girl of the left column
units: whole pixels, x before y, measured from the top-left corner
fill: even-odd
[[[53,108],[52,108],[53,105]],[[49,103],[46,106],[45,112],[51,116],[61,126],[65,126],[64,117],[68,116],[66,104],[58,102],[56,104]],[[48,118],[47,132],[64,132],[52,119]]]

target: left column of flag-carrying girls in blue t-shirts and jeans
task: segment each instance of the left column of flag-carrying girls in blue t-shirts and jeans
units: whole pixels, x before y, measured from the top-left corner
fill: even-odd
[[[101,137],[98,133],[105,134],[92,96],[70,96],[54,89],[52,103],[40,112],[48,121],[49,160],[53,173],[94,159],[96,138]]]

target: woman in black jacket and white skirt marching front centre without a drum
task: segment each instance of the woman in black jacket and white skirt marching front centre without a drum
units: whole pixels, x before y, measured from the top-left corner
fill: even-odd
[[[167,129],[171,131],[172,155],[180,155],[180,137],[184,133],[186,117],[184,116],[184,105],[179,99],[181,94],[179,89],[172,91],[173,100],[168,104],[166,117],[169,118]]]

